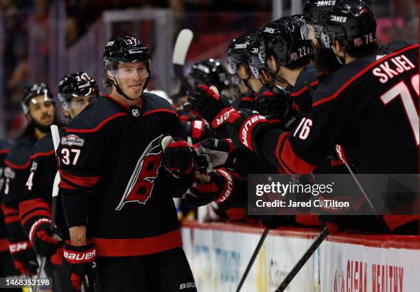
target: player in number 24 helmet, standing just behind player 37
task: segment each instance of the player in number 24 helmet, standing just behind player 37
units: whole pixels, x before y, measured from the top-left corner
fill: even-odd
[[[62,111],[70,120],[87,104],[99,97],[97,82],[88,74],[78,72],[62,78],[58,88],[58,99]],[[65,136],[65,128],[60,128]],[[31,155],[31,172],[25,186],[25,195],[19,204],[19,214],[25,234],[37,254],[51,262],[54,291],[75,291],[62,268],[62,240],[69,238],[62,212],[60,196],[56,203],[54,228],[50,231],[52,206],[51,193],[54,177],[58,171],[51,134],[36,142]]]

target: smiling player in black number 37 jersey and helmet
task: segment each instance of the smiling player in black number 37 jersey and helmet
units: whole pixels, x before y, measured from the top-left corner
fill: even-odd
[[[112,38],[104,62],[110,95],[71,121],[58,148],[69,279],[77,289],[96,273],[99,291],[196,291],[172,199],[192,173],[161,167],[163,134],[185,138],[180,120],[143,92],[152,66],[139,38]]]

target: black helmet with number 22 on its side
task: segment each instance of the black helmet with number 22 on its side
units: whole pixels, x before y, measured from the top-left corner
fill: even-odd
[[[309,62],[314,49],[308,37],[305,21],[301,16],[288,16],[268,23],[262,30],[266,57],[273,56],[279,66],[293,67]]]

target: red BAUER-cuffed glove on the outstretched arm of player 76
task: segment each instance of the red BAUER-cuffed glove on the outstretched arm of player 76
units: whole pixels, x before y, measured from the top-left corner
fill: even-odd
[[[255,137],[261,128],[270,126],[270,122],[259,113],[250,110],[231,113],[227,123],[229,137],[237,147],[248,148],[258,154]]]

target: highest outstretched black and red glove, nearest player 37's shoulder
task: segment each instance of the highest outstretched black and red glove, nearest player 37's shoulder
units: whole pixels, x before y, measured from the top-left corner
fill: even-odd
[[[200,85],[188,98],[191,111],[207,120],[213,128],[218,128],[229,118],[233,107],[225,96],[220,96],[205,85]]]

